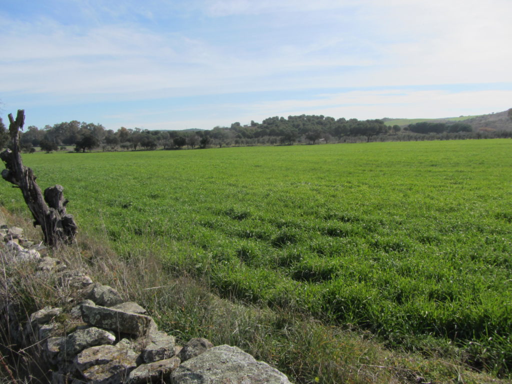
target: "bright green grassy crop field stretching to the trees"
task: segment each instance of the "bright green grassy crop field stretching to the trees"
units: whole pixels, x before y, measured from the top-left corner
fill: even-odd
[[[512,368],[512,141],[24,156],[84,231],[226,297]],[[0,202],[26,209],[0,184]]]

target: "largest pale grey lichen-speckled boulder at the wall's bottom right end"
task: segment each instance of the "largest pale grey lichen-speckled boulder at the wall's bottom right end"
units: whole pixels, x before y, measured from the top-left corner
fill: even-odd
[[[193,357],[172,373],[173,384],[290,384],[286,375],[240,348],[222,345]]]

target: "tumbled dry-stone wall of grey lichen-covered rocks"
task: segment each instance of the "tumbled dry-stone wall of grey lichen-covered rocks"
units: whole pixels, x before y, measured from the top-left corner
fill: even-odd
[[[237,347],[214,347],[204,338],[176,345],[144,308],[45,256],[46,248],[24,239],[20,228],[3,225],[0,234],[4,266],[32,260],[37,273],[73,291],[67,308],[45,307],[25,319],[18,316],[18,303],[0,299],[0,326],[9,343],[20,349],[38,346],[38,363],[48,367],[52,383],[289,383],[283,373]]]

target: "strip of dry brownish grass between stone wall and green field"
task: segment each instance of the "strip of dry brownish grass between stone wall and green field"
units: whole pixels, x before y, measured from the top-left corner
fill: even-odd
[[[0,211],[0,219],[2,215],[10,225],[26,228],[27,237],[40,237],[29,220],[5,210]],[[206,337],[215,345],[239,346],[297,383],[505,383],[468,369],[455,349],[450,358],[445,351],[437,354],[432,350],[426,357],[389,351],[370,333],[326,326],[289,308],[270,310],[220,298],[205,282],[169,270],[158,254],[149,251],[134,250],[130,260],[123,260],[105,239],[81,233],[76,244],[51,255],[144,306],[159,327],[175,335],[178,342]],[[56,289],[48,276],[37,277],[30,263],[3,265],[0,286],[0,294],[17,297],[27,313],[46,305],[69,305],[71,292]],[[5,366],[0,368],[0,384],[44,382],[35,378],[44,376],[34,374],[33,355],[2,345],[2,352],[6,351],[13,375]]]

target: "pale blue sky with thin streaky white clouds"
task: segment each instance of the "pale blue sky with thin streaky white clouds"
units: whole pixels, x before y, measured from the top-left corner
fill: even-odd
[[[0,117],[212,129],[512,107],[510,0],[0,0]]]

